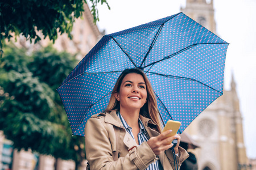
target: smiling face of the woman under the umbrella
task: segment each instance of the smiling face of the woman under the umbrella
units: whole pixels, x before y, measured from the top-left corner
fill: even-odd
[[[115,99],[120,101],[120,111],[141,109],[147,101],[143,76],[137,73],[127,74],[122,80],[119,93],[115,94]]]

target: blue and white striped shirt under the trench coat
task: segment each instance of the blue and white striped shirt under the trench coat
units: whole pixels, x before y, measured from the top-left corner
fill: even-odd
[[[120,112],[117,113],[117,116],[120,118],[123,126],[125,127],[126,131],[131,135],[131,137],[133,137],[134,139],[134,135],[133,132],[131,131],[131,127],[126,123],[126,121],[123,119],[122,115],[120,114]],[[134,139],[135,140],[135,139]],[[139,141],[139,145],[142,144],[142,142],[144,141],[148,141],[148,137],[147,137],[147,132],[142,124],[141,119],[139,118],[139,133],[138,133],[138,141]],[[157,160],[155,163],[151,163],[148,168],[146,170],[162,170],[162,166],[159,166],[160,162],[159,160]]]

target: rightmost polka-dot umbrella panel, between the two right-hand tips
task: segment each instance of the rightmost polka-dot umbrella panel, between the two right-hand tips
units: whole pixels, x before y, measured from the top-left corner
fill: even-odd
[[[222,92],[226,48],[226,44],[199,44],[144,70],[195,79]]]

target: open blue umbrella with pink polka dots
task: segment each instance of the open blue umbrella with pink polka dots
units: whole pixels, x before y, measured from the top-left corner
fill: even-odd
[[[155,91],[163,124],[179,133],[222,95],[228,43],[182,12],[105,35],[57,88],[74,135],[104,111],[123,70],[138,67]]]

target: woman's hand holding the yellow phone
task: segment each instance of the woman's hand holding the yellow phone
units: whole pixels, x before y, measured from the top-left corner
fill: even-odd
[[[163,151],[168,150],[172,146],[174,146],[173,143],[170,143],[174,139],[177,139],[178,143],[177,146],[175,147],[176,150],[179,146],[180,143],[180,136],[179,135],[174,135],[172,137],[166,138],[166,135],[170,134],[172,130],[167,130],[164,131],[163,133],[159,134],[157,137],[151,137],[148,141],[147,144],[151,147],[152,151],[154,152],[155,155],[160,155]],[[176,152],[175,150],[175,152]]]

